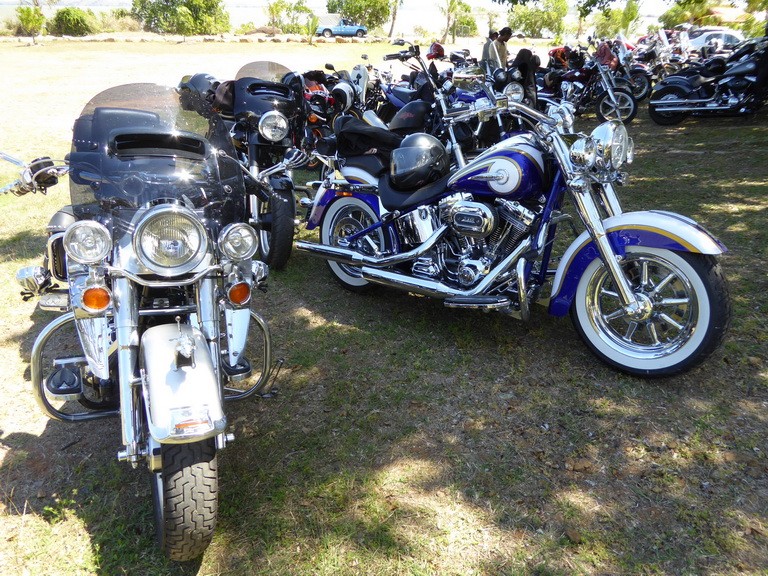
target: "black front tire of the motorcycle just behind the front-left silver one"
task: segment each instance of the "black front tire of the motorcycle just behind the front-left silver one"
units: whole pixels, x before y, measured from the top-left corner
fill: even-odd
[[[268,202],[257,202],[259,211],[259,258],[270,268],[282,270],[293,250],[293,191],[275,191]]]

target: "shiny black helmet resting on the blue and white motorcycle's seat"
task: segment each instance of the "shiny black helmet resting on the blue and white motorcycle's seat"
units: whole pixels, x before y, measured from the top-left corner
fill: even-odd
[[[429,134],[411,134],[392,151],[390,177],[397,190],[416,190],[448,174],[445,146]]]

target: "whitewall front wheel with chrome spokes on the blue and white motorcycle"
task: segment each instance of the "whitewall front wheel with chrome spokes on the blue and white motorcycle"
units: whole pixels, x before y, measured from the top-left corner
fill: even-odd
[[[714,257],[629,247],[622,269],[649,305],[645,318],[624,313],[599,258],[584,271],[571,306],[577,332],[601,360],[629,374],[672,376],[700,364],[722,343],[731,304]]]

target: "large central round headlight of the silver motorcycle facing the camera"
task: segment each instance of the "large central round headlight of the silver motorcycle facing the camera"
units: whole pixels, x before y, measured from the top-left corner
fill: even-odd
[[[136,257],[160,276],[185,274],[208,252],[208,236],[200,219],[181,206],[158,206],[136,226]]]

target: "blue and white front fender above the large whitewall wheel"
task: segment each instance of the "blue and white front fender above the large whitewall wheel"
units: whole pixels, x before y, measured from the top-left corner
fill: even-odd
[[[615,253],[625,254],[627,246],[649,246],[675,252],[723,254],[725,245],[696,221],[660,210],[625,212],[603,222]],[[549,313],[565,316],[571,307],[581,275],[600,253],[592,238],[583,232],[563,254],[552,284]]]

